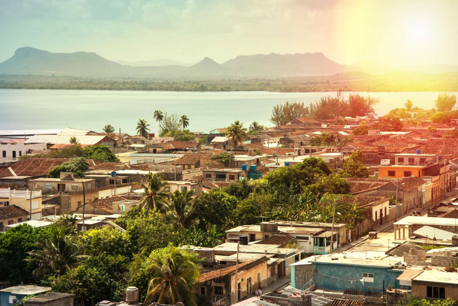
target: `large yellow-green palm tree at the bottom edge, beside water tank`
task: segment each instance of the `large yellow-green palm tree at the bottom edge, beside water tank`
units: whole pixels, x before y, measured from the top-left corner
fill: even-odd
[[[154,251],[146,271],[157,277],[149,281],[145,304],[157,301],[160,304],[182,302],[186,306],[197,306],[190,289],[200,276],[195,260],[189,251],[177,246],[169,245]]]

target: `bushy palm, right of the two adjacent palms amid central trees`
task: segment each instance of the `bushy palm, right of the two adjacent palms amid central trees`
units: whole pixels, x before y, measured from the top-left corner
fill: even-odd
[[[171,222],[180,224],[185,228],[191,225],[199,224],[199,219],[193,218],[196,206],[192,198],[194,192],[192,191],[178,191],[167,195],[167,202],[165,203],[165,216]]]

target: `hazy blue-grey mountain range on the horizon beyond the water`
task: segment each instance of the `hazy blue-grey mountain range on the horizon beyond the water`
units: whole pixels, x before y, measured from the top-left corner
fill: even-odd
[[[322,53],[239,55],[219,64],[205,57],[185,66],[171,60],[142,62],[111,61],[93,52],[51,53],[31,47],[16,49],[14,55],[0,63],[0,74],[32,74],[85,77],[174,77],[174,76],[305,76],[329,75],[348,71],[387,73],[419,71],[442,73],[458,71],[458,65],[368,67],[342,65]],[[156,66],[151,66],[152,64]],[[171,65],[168,65],[171,64]],[[144,66],[142,66],[144,65]]]

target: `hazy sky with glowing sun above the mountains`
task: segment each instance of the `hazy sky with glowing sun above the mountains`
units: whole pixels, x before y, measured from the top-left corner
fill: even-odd
[[[0,62],[19,47],[219,63],[322,52],[352,64],[458,64],[458,0],[0,0]]]

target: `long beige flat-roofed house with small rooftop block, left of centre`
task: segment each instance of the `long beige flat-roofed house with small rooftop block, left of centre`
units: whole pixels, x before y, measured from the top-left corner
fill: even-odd
[[[33,184],[33,189],[39,189],[44,192],[58,193],[67,191],[78,191],[84,189],[90,191],[95,188],[94,179],[74,178],[71,172],[60,172],[60,178],[42,177],[35,180],[30,180]]]

